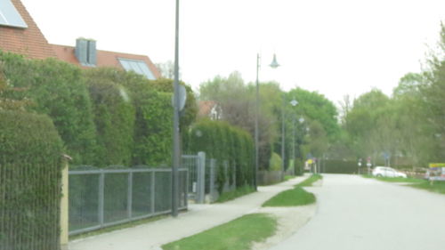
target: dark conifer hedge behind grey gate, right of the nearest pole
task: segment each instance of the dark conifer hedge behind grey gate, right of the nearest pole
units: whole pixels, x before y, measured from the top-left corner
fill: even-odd
[[[192,126],[187,134],[185,149],[192,153],[206,152],[206,156],[217,160],[219,165],[229,162],[229,177],[223,172],[223,167],[217,174],[218,191],[223,192],[223,184],[229,178],[229,183],[236,181],[237,188],[253,184],[254,142],[246,131],[229,125],[223,121],[201,120]],[[232,180],[232,173],[236,180]]]

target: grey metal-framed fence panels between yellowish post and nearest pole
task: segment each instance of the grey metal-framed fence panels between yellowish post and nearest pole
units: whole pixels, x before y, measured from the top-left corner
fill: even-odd
[[[179,169],[179,209],[187,208],[188,172]],[[69,235],[168,214],[171,206],[170,168],[69,171]]]

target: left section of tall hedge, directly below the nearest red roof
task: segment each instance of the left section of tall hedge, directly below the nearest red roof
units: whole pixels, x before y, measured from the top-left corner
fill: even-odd
[[[33,102],[29,109],[53,119],[73,163],[93,162],[95,128],[81,69],[58,60],[26,60],[4,52],[0,62],[8,83],[25,88],[18,94]]]

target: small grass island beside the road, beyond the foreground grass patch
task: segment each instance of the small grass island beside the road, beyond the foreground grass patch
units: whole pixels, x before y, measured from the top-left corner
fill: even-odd
[[[315,202],[315,196],[295,187],[293,190],[285,190],[263,203],[263,206],[304,206]]]

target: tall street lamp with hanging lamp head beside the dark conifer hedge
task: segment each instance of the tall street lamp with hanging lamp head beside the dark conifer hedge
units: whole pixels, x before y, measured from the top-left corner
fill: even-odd
[[[269,65],[272,69],[277,69],[279,67],[279,63],[277,62],[277,56],[273,54],[273,60],[271,64]],[[259,145],[258,145],[258,117],[260,115],[260,83],[259,83],[259,74],[260,71],[260,54],[256,54],[256,93],[255,93],[255,103],[256,103],[256,109],[255,109],[255,170],[254,170],[254,186],[255,190],[257,190],[258,187],[258,165],[259,165]]]

